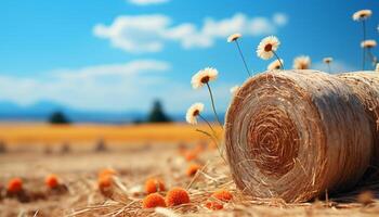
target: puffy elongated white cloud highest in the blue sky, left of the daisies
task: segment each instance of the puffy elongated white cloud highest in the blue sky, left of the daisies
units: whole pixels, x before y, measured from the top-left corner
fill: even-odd
[[[274,34],[278,27],[287,24],[283,13],[272,18],[249,17],[237,13],[223,20],[207,17],[201,26],[193,23],[172,25],[169,16],[164,14],[118,16],[106,26],[97,24],[93,28],[95,36],[108,39],[113,47],[127,52],[158,52],[167,41],[177,41],[185,49],[209,48],[217,39],[224,39],[234,33],[245,36],[262,36]]]

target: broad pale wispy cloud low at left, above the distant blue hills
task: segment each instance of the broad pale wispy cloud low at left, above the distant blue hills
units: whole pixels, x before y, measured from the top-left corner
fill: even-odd
[[[162,73],[168,69],[167,62],[139,60],[56,69],[38,77],[0,76],[0,100],[22,105],[51,100],[83,110],[140,110],[147,107],[156,97],[154,90],[166,84]]]

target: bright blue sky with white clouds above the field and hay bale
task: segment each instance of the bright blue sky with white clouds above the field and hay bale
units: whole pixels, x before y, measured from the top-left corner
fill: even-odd
[[[206,90],[191,77],[213,66],[220,110],[246,72],[226,35],[241,31],[249,66],[270,63],[254,53],[276,35],[290,68],[300,54],[314,68],[332,56],[334,71],[361,66],[361,25],[353,12],[371,9],[368,38],[378,40],[379,2],[373,0],[58,0],[0,2],[0,101],[21,105],[54,101],[91,111],[147,111],[159,98],[172,113]]]

